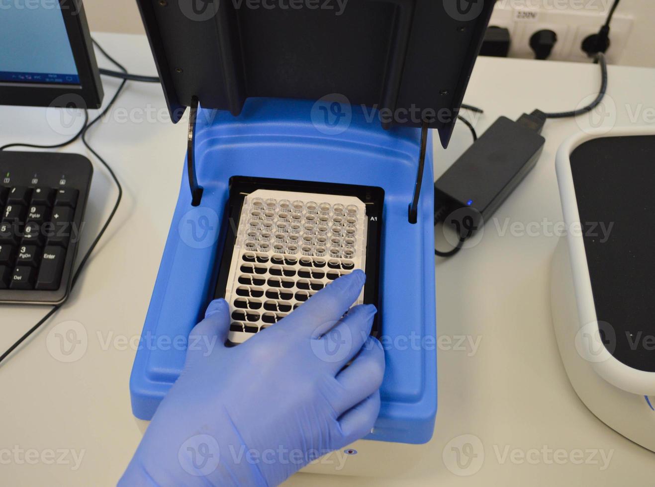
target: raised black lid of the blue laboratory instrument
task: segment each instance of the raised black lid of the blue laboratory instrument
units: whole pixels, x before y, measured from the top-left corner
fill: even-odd
[[[384,128],[434,116],[444,146],[494,3],[138,0],[174,122],[193,96],[238,115],[249,97],[341,94],[397,113]]]

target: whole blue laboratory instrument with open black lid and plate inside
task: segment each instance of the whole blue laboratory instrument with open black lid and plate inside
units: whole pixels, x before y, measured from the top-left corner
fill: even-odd
[[[386,372],[348,463],[401,465],[396,443],[429,441],[437,410],[434,346],[398,345],[436,339],[432,134],[447,145],[494,2],[352,0],[338,16],[190,4],[138,1],[172,120],[190,107],[143,336],[185,338],[225,297],[241,346],[362,268],[358,302],[379,310]],[[137,418],[152,418],[184,361],[138,350]]]

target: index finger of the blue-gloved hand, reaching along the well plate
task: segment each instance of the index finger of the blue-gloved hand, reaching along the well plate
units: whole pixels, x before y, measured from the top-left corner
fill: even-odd
[[[277,326],[286,325],[292,327],[295,332],[314,337],[325,333],[357,300],[365,281],[366,274],[359,269],[342,276],[318,291]]]

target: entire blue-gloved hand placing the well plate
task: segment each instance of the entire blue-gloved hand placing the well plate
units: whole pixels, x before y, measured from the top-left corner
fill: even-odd
[[[120,484],[277,485],[369,433],[384,375],[375,306],[341,319],[364,281],[360,270],[333,281],[233,348],[227,302],[214,300]]]

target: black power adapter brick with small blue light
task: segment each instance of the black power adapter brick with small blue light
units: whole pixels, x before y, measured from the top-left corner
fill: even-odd
[[[544,122],[538,110],[498,118],[434,183],[435,224],[455,226],[460,243],[481,228],[536,164]]]

